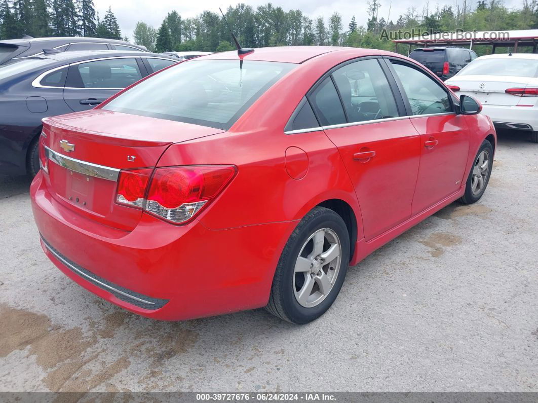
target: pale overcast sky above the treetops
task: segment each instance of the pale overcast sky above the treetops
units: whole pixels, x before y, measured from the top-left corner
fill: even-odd
[[[522,0],[521,0],[522,1]],[[505,5],[508,7],[520,6],[520,0],[505,0]],[[267,0],[254,0],[245,1],[245,4],[250,4],[254,9],[256,6],[266,4]],[[471,2],[475,6],[476,1],[468,0],[468,4]],[[119,26],[122,29],[122,35],[128,36],[132,41],[132,31],[134,25],[138,21],[144,21],[147,24],[153,25],[155,29],[158,29],[162,23],[162,19],[166,16],[168,11],[176,10],[180,13],[182,18],[195,17],[204,10],[210,10],[219,12],[218,8],[223,10],[228,8],[228,5],[235,5],[235,3],[226,3],[223,0],[199,0],[199,1],[173,1],[173,0],[94,0],[95,9],[99,12],[101,18],[104,16],[109,6],[112,6],[112,12],[118,19]],[[327,0],[295,0],[293,3],[284,0],[274,0],[273,5],[281,6],[285,11],[294,8],[299,9],[310,18],[317,18],[318,16],[324,16],[325,20],[328,20],[329,16],[338,11],[342,15],[344,29],[347,29],[351,16],[355,15],[357,23],[359,25],[366,25],[368,16],[367,3],[358,2],[357,0],[336,0],[330,4]],[[417,12],[422,14],[422,8],[426,5],[427,0],[422,2],[416,2],[412,0],[381,0],[381,8],[379,10],[379,17],[384,17],[386,20],[397,20],[400,14],[404,14],[406,10],[412,6],[415,6]],[[438,2],[430,1],[429,9],[434,10],[436,4],[452,5],[463,4],[463,0],[440,0]],[[390,16],[389,16],[390,9]]]

